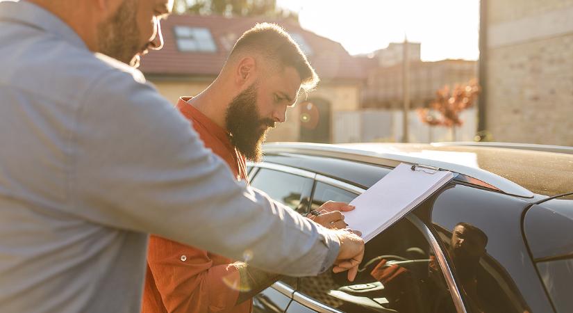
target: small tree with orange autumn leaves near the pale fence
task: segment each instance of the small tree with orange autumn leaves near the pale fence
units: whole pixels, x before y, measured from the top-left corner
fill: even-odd
[[[438,90],[435,99],[428,108],[417,109],[418,116],[424,124],[431,127],[449,127],[452,141],[456,138],[456,127],[463,125],[460,113],[474,106],[479,94],[479,86],[475,80],[465,85],[449,86]]]

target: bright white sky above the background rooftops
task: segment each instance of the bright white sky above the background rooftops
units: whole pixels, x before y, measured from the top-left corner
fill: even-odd
[[[479,58],[479,0],[277,0],[301,26],[368,54],[390,42],[422,43],[422,61]]]

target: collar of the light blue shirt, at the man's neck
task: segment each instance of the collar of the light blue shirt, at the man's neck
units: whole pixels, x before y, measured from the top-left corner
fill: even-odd
[[[57,35],[63,40],[72,43],[72,45],[88,49],[85,42],[78,34],[71,29],[63,20],[61,20],[48,10],[28,1],[1,1],[0,0],[0,22],[10,21],[20,24],[26,24],[36,29],[42,29],[47,33]]]

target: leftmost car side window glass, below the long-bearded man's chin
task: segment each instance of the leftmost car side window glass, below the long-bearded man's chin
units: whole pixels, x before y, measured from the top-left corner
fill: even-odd
[[[300,214],[307,213],[313,179],[293,175],[279,170],[261,168],[251,182],[251,186],[264,191],[276,201],[294,209]]]

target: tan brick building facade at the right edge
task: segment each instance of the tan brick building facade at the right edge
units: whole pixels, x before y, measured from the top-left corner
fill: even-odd
[[[573,146],[573,0],[481,0],[481,129]]]

